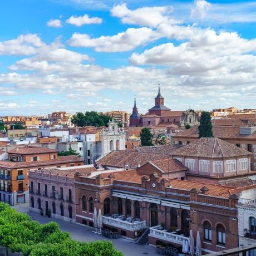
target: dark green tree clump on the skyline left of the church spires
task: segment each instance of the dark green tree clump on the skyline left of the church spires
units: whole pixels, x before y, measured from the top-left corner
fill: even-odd
[[[78,127],[91,126],[107,126],[107,123],[111,120],[110,116],[100,116],[95,111],[87,111],[85,114],[78,112],[71,119],[72,124]]]

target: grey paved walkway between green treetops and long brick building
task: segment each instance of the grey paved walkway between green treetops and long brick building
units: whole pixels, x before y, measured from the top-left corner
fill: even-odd
[[[16,206],[12,206],[17,211],[27,213],[31,216],[32,219],[39,221],[40,223],[48,223],[49,221],[56,221],[63,231],[70,232],[72,239],[83,242],[90,242],[93,240],[111,240],[115,247],[120,250],[124,256],[142,256],[142,255],[150,255],[156,256],[159,255],[155,252],[155,248],[149,245],[139,245],[134,241],[125,238],[119,239],[109,239],[105,238],[102,235],[92,233],[91,228],[87,226],[78,225],[74,223],[68,223],[67,221],[55,219],[55,218],[47,218],[47,216],[41,216],[40,214],[33,213],[28,211],[28,204],[19,204]],[[1,250],[0,250],[1,255]],[[4,254],[2,254],[4,255]]]

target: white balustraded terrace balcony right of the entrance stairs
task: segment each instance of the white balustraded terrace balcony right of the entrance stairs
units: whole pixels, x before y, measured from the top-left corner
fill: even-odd
[[[184,240],[189,240],[188,237],[185,237],[183,234],[177,234],[176,232],[168,232],[166,230],[160,230],[161,225],[150,228],[149,237],[160,238],[167,242],[175,244],[183,244]]]

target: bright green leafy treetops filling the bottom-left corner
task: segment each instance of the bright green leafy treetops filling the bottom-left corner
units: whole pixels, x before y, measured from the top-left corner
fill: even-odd
[[[40,224],[0,202],[0,245],[27,256],[122,256],[111,242],[77,242],[55,222]]]

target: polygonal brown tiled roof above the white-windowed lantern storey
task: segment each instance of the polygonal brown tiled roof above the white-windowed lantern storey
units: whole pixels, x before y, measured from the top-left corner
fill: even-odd
[[[222,158],[248,156],[252,155],[252,153],[218,138],[203,137],[185,145],[181,149],[176,150],[174,155]]]

